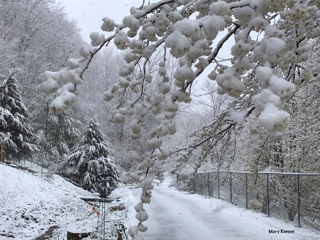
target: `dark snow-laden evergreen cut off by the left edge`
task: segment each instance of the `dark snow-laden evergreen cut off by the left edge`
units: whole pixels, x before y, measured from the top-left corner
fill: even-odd
[[[7,76],[0,76],[0,141],[33,151],[36,146],[31,141],[36,139],[36,135],[28,124],[30,113],[20,96],[20,85],[14,78],[16,72],[16,69],[11,69]]]

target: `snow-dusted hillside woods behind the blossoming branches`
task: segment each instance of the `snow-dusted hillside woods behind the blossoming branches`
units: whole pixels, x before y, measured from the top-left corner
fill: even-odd
[[[141,137],[134,141],[129,135],[130,117],[122,124],[108,121],[109,111],[116,100],[106,102],[102,95],[117,82],[118,70],[126,51],[108,46],[97,53],[84,73],[84,83],[78,85],[81,97],[78,97],[77,102],[65,113],[56,115],[49,111],[54,94],[45,94],[41,89],[43,73],[46,70],[60,70],[69,58],[78,57],[79,48],[83,44],[88,45],[82,39],[76,21],[68,19],[61,5],[53,0],[2,2],[0,15],[0,86],[9,77],[9,72],[13,72],[14,78],[20,84],[21,98],[30,113],[27,121],[35,134],[30,142],[41,146],[41,151],[45,154],[62,158],[79,142],[84,132],[83,126],[96,116],[102,124],[101,130],[106,135],[110,148],[114,150],[113,157],[121,179],[124,182],[130,181],[130,172],[135,170],[148,153],[145,141],[148,140],[152,121],[155,120],[153,116],[148,116],[148,125],[142,130]],[[316,60],[319,57],[318,41],[308,44],[311,50],[309,60],[305,62],[306,67],[318,64]],[[163,48],[158,50],[147,64],[148,71],[154,78],[163,77],[158,63],[164,59],[164,54]],[[171,74],[170,91],[173,91],[176,86],[172,83],[172,74],[178,66],[178,60],[169,54],[165,59],[167,74]],[[250,125],[250,121],[255,121],[256,114],[250,115],[244,123],[240,123],[243,126],[241,134],[235,133],[226,143],[232,144],[234,151],[224,151],[224,144],[221,143],[220,147],[210,154],[208,163],[203,165],[200,171],[215,170],[218,167],[237,171],[249,170],[248,162],[254,158],[253,154],[261,154],[259,170],[320,172],[319,98],[311,97],[313,84],[303,84],[307,87],[299,90],[288,103],[286,111],[291,114],[291,123],[283,131],[284,137],[281,140],[268,140],[263,149],[255,148],[252,151],[254,139],[250,131],[257,130]],[[156,84],[150,83],[147,87],[148,91],[152,92],[155,91]],[[128,93],[126,97],[133,98],[131,94]],[[177,133],[165,137],[165,148],[188,145],[192,141],[189,134],[219,116],[232,100],[227,95],[219,95],[216,92],[216,83],[209,79],[199,81],[198,91],[192,98],[192,104],[179,103],[180,111],[172,120],[176,124]],[[265,135],[264,132],[257,133],[258,138]],[[231,155],[235,157],[232,158]],[[230,158],[233,159],[231,164]],[[194,160],[188,159],[185,168],[179,171],[186,173],[192,170],[189,166]],[[152,168],[151,173],[153,177],[161,180],[163,172],[174,164],[174,157],[165,162],[156,161],[156,167]]]

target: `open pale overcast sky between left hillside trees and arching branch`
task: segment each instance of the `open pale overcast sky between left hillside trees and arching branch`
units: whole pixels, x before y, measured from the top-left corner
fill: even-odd
[[[89,35],[100,29],[102,18],[108,17],[122,23],[124,16],[130,15],[132,6],[139,7],[142,0],[60,0],[69,19],[76,19],[82,29],[84,40],[90,43]],[[150,1],[151,2],[151,1]]]

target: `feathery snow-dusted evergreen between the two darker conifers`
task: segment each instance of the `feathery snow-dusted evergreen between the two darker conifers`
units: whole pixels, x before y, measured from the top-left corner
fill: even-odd
[[[39,145],[47,155],[61,157],[70,151],[80,139],[78,127],[81,122],[71,117],[73,111],[67,109],[63,114],[53,114],[49,104],[53,96],[41,94],[36,103],[32,104],[32,126],[39,136]]]

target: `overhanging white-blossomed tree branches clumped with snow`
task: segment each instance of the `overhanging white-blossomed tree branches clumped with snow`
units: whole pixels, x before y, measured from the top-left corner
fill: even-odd
[[[139,238],[138,231],[147,230],[142,224],[148,219],[143,204],[150,203],[153,185],[147,176],[155,161],[175,154],[177,164],[172,170],[175,172],[195,149],[201,148],[195,156],[194,173],[212,150],[217,153],[218,149],[218,166],[219,159],[226,154],[232,162],[236,136],[254,113],[257,118],[250,121],[251,134],[264,132],[253,143],[254,155],[249,161],[252,172],[257,172],[265,145],[269,140],[280,141],[290,123],[288,102],[308,86],[314,90],[308,91],[308,97],[319,98],[318,64],[304,66],[309,59],[308,44],[320,36],[319,7],[320,2],[314,0],[162,0],[142,4],[132,7],[122,23],[103,18],[101,30],[112,32],[110,36],[93,32],[92,46],[82,46],[79,50],[81,58],[69,59],[68,67],[58,72],[44,73],[42,88],[47,94],[57,94],[50,108],[60,114],[76,101],[76,87],[85,81],[84,71],[103,46],[113,40],[118,49],[127,50],[118,82],[103,95],[106,101],[116,100],[109,120],[121,124],[130,116],[132,139],[140,137],[150,115],[154,115],[156,122],[146,141],[150,148],[148,157],[132,173],[132,180],[138,182],[140,175],[145,174],[140,183],[141,202],[135,206],[139,224],[130,229],[133,239]],[[173,91],[166,57],[158,63],[161,78],[150,74],[148,69],[150,59],[163,47],[166,54],[179,59],[172,75],[176,87]],[[226,49],[233,56],[227,66],[218,59],[218,55],[224,58]],[[210,124],[192,132],[193,140],[188,145],[165,151],[162,140],[176,132],[172,119],[179,109],[178,103],[192,101],[195,80],[208,69],[211,71],[208,78],[218,84],[217,92],[229,95],[230,103]],[[64,85],[60,87],[58,82]],[[156,84],[156,91],[150,92],[148,86],[152,84]],[[257,175],[252,185],[256,199],[251,204],[256,208],[261,207],[256,184],[259,181],[262,178]]]

